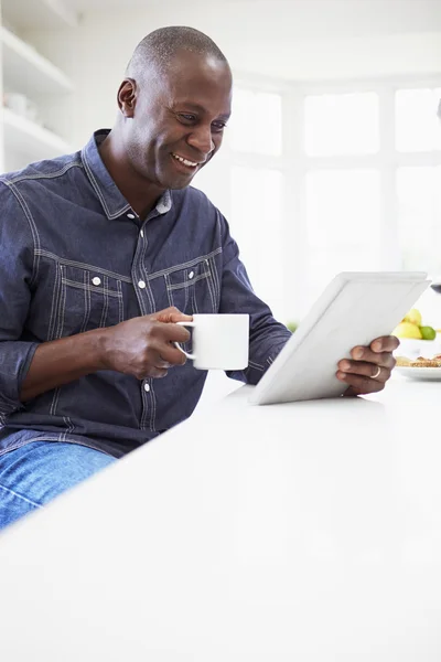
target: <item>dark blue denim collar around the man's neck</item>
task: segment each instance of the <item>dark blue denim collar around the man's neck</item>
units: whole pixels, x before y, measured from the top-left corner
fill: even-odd
[[[105,214],[111,220],[118,218],[122,214],[127,214],[131,211],[131,206],[111,179],[98,151],[99,145],[109,134],[110,129],[95,131],[88,143],[82,150],[82,159],[87,177],[101,203]],[[165,214],[171,207],[172,196],[170,191],[165,191],[158,201],[155,211],[159,214]]]

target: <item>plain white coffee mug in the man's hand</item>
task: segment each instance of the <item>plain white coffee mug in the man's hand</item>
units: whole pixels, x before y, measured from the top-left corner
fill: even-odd
[[[179,342],[175,346],[198,370],[244,370],[248,366],[249,314],[194,314],[192,322],[178,322],[193,329],[192,353]]]

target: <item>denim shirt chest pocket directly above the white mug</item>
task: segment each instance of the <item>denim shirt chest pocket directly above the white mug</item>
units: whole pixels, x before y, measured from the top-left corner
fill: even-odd
[[[164,279],[170,306],[186,314],[217,312],[219,295],[214,269],[211,259],[202,259],[184,269],[168,271]]]

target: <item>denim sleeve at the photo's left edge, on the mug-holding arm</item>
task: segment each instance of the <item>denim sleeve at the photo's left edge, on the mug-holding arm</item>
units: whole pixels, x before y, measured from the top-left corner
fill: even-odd
[[[0,424],[22,407],[21,386],[37,348],[21,340],[31,301],[35,233],[13,184],[0,181]]]

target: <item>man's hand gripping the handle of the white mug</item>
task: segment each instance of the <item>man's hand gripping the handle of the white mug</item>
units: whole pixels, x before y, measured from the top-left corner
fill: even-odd
[[[190,340],[190,332],[176,324],[190,321],[190,316],[172,307],[105,329],[101,370],[115,370],[137,380],[164,377],[172,365],[186,361],[173,342]]]

